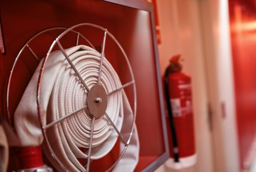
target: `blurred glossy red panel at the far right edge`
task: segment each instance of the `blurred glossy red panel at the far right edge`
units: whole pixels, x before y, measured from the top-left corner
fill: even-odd
[[[241,169],[252,163],[256,141],[256,3],[229,0],[231,47]]]

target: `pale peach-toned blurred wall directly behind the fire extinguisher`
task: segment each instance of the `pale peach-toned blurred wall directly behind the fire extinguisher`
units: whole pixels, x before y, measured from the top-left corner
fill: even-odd
[[[207,83],[204,47],[197,0],[158,0],[162,43],[159,45],[161,72],[169,58],[181,53],[184,71],[192,77],[197,164],[179,172],[213,172],[212,141],[207,113]],[[175,172],[161,166],[157,172]]]

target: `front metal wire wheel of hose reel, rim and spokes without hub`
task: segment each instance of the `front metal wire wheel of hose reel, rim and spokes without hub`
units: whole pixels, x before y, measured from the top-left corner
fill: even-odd
[[[110,38],[112,38],[114,40],[114,42],[118,45],[118,47],[120,48],[120,50],[123,53],[124,58],[126,59],[126,63],[128,65],[129,68],[129,72],[130,72],[130,76],[132,78],[132,81],[118,87],[115,88],[114,90],[112,90],[111,92],[108,92],[107,95],[111,95],[114,94],[120,90],[122,90],[124,87],[127,87],[129,85],[133,85],[133,93],[134,93],[134,105],[133,105],[133,122],[130,128],[130,134],[129,134],[129,138],[127,140],[124,139],[124,137],[122,136],[122,134],[118,131],[117,127],[115,126],[115,124],[112,122],[111,118],[109,117],[109,115],[107,113],[105,113],[105,117],[107,118],[107,120],[110,122],[110,124],[112,125],[112,127],[114,128],[114,130],[117,132],[118,136],[120,137],[120,139],[124,142],[125,147],[123,149],[123,151],[121,151],[120,156],[118,157],[117,161],[111,166],[110,169],[108,169],[107,171],[110,171],[112,168],[114,168],[114,166],[118,163],[118,161],[121,159],[121,157],[124,155],[127,146],[130,143],[130,139],[132,137],[132,132],[133,132],[133,128],[135,125],[135,117],[136,117],[136,88],[135,88],[135,81],[134,81],[134,76],[133,76],[133,72],[129,63],[129,60],[127,58],[126,53],[124,52],[123,48],[121,47],[121,45],[119,44],[119,42],[117,41],[117,39],[114,38],[113,35],[111,35],[107,29],[102,28],[101,26],[98,25],[94,25],[94,24],[90,24],[90,23],[81,23],[75,26],[72,26],[71,28],[68,28],[67,30],[65,30],[64,32],[62,32],[61,35],[59,35],[55,41],[53,41],[49,51],[47,52],[47,56],[44,58],[43,60],[43,64],[41,67],[41,71],[40,71],[40,76],[38,79],[38,89],[37,89],[37,105],[38,105],[38,117],[40,120],[40,125],[41,125],[41,129],[42,129],[42,133],[44,136],[44,140],[47,143],[47,146],[49,148],[50,153],[52,154],[53,158],[65,169],[67,170],[67,168],[65,167],[65,164],[62,164],[61,161],[59,160],[58,156],[55,154],[55,152],[52,149],[51,144],[49,143],[47,134],[46,134],[46,130],[50,127],[52,127],[55,124],[58,124],[58,122],[61,122],[62,120],[67,119],[68,117],[73,116],[74,114],[77,114],[77,112],[80,112],[81,110],[85,109],[87,106],[83,106],[81,108],[78,108],[77,110],[75,110],[74,112],[71,112],[70,114],[65,115],[62,118],[59,118],[58,120],[55,120],[49,124],[44,124],[43,122],[43,114],[41,112],[41,103],[40,103],[40,95],[41,95],[41,82],[42,82],[42,78],[43,78],[43,74],[44,74],[44,68],[46,67],[46,62],[47,59],[49,58],[50,53],[53,50],[53,47],[55,45],[58,45],[59,49],[61,50],[61,52],[64,54],[66,60],[68,61],[68,63],[70,64],[70,66],[72,67],[72,69],[74,70],[74,73],[76,74],[76,76],[78,77],[78,79],[80,80],[80,82],[82,83],[82,85],[84,86],[84,88],[86,89],[87,93],[90,91],[89,87],[86,85],[86,83],[84,82],[84,80],[82,79],[80,73],[78,72],[78,70],[76,69],[75,65],[73,64],[72,60],[69,58],[69,56],[66,54],[66,52],[64,51],[64,48],[62,47],[61,43],[59,42],[59,40],[68,32],[73,31],[73,29],[79,27],[79,26],[91,26],[97,29],[100,29],[102,31],[104,31],[104,38],[103,38],[103,42],[102,42],[102,52],[101,52],[101,58],[100,58],[100,65],[99,65],[99,73],[98,73],[98,82],[97,84],[100,84],[101,81],[101,74],[102,74],[102,63],[103,63],[103,54],[104,54],[104,49],[105,49],[105,42],[106,42],[106,37],[107,35],[110,36]],[[77,34],[77,44],[78,44],[78,38],[79,38],[79,34]],[[88,158],[87,158],[87,165],[86,165],[86,171],[89,172],[89,167],[90,167],[90,162],[91,162],[91,150],[92,150],[92,140],[93,140],[93,130],[94,130],[94,125],[95,125],[95,117],[92,116],[92,124],[91,124],[91,130],[90,130],[90,140],[89,140],[89,149],[88,149]]]

